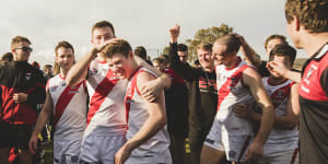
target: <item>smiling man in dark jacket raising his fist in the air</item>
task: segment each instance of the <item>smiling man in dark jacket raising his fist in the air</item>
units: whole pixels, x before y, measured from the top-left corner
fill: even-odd
[[[212,45],[200,44],[197,56],[201,68],[194,68],[186,61],[187,46],[178,46],[179,26],[169,30],[169,63],[172,69],[189,85],[189,145],[190,162],[198,164],[206,136],[211,129],[218,105],[214,59]],[[184,48],[178,48],[184,47]],[[180,54],[180,55],[178,55]],[[183,57],[184,56],[184,57]],[[184,60],[181,60],[184,59]]]

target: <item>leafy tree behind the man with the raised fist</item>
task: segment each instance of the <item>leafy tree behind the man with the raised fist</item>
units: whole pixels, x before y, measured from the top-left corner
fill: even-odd
[[[188,60],[194,61],[197,59],[197,46],[204,42],[213,44],[216,38],[223,36],[225,34],[232,33],[233,27],[227,26],[226,24],[222,23],[219,27],[213,26],[209,28],[201,28],[196,32],[194,39],[186,39],[186,45],[189,49]]]

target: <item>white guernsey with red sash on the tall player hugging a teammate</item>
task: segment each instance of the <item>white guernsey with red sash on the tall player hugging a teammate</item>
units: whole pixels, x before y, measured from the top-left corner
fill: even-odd
[[[109,70],[106,61],[93,60],[87,70],[86,87],[90,96],[87,126],[84,134],[125,133],[124,99],[127,80],[120,80]]]

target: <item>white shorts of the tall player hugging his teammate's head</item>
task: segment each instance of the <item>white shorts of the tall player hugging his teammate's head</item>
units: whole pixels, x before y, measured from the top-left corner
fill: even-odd
[[[116,136],[84,136],[81,147],[81,164],[114,164],[115,153],[124,145],[124,133]]]

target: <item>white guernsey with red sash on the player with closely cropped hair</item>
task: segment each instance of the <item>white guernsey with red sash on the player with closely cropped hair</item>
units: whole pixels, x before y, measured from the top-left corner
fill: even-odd
[[[227,69],[224,65],[216,66],[218,113],[215,119],[223,122],[230,134],[253,136],[253,126],[246,118],[236,117],[232,112],[237,103],[254,103],[254,97],[243,83],[243,72],[250,68],[238,58],[235,67]]]

